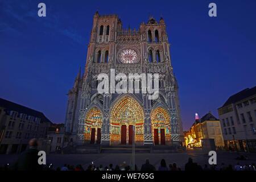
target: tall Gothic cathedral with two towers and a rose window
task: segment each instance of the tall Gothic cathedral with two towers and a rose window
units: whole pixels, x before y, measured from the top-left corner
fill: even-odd
[[[99,94],[97,76],[110,75],[110,69],[115,75],[159,73],[159,97],[149,100],[150,94],[141,92]],[[85,72],[79,71],[68,92],[65,129],[77,145],[183,141],[178,85],[163,18],[150,18],[138,30],[124,30],[117,15],[94,14]]]

